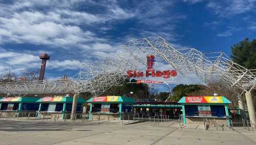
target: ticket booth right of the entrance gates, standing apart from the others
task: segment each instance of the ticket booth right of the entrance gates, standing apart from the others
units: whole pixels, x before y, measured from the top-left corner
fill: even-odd
[[[178,103],[182,104],[183,124],[202,124],[203,118],[207,118],[229,126],[231,102],[223,96],[186,96]]]

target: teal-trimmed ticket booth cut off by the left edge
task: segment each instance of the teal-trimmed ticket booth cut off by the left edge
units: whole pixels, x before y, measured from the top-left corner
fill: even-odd
[[[27,98],[27,97],[9,97],[2,98],[0,100],[0,116],[6,114],[6,112],[15,112],[20,111],[37,111],[39,108],[38,102],[36,102],[39,98]]]

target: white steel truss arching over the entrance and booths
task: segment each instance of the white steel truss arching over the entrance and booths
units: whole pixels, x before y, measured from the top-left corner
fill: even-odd
[[[82,64],[79,73],[72,78],[0,83],[0,93],[90,92],[97,96],[111,86],[122,85],[127,70],[143,70],[149,54],[161,57],[181,75],[198,76],[206,84],[216,83],[236,93],[250,92],[256,87],[256,70],[232,62],[223,52],[202,53],[194,48],[178,50],[161,37],[151,37],[126,42],[116,57]]]

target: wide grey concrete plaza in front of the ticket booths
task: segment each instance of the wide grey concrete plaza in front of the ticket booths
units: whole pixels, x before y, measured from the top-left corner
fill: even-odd
[[[54,122],[0,119],[0,144],[256,144],[256,134],[245,129],[181,129],[177,121],[154,127],[149,122]]]

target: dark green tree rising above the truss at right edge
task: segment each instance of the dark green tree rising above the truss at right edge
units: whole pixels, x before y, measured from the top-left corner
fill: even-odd
[[[256,40],[248,38],[231,46],[231,59],[233,62],[247,68],[256,69]]]

